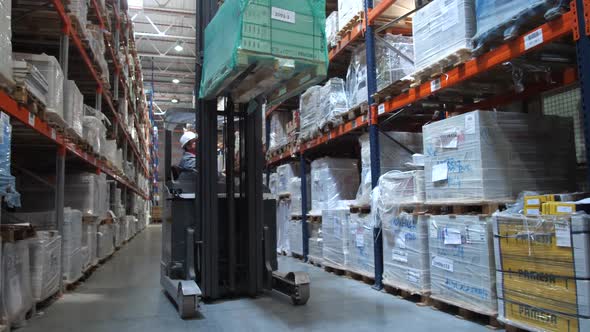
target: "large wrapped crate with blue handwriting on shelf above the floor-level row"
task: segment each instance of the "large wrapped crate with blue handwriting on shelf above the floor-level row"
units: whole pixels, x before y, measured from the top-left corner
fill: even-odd
[[[423,127],[426,201],[509,201],[525,190],[572,191],[571,119],[475,111]]]

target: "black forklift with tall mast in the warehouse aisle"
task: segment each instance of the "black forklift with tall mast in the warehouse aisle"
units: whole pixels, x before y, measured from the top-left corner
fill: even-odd
[[[217,1],[197,1],[199,51]],[[165,115],[160,283],[183,319],[197,315],[201,301],[256,297],[275,290],[303,305],[310,296],[307,273],[278,271],[276,200],[263,183],[263,100],[238,104],[230,94],[200,99],[195,109],[168,109]],[[218,170],[218,119],[225,172]],[[172,131],[183,123],[194,123],[199,135],[193,172],[180,172],[172,165]]]

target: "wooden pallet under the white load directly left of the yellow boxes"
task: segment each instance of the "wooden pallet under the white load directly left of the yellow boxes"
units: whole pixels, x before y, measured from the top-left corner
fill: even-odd
[[[444,311],[455,315],[457,318],[483,324],[492,330],[502,328],[503,324],[498,321],[497,312],[488,312],[471,307],[467,304],[458,303],[453,300],[443,299],[433,295],[430,295],[430,301],[434,310]]]

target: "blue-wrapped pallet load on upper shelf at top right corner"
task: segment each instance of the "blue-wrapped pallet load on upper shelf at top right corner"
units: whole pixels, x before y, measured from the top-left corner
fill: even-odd
[[[567,11],[564,0],[475,0],[477,33],[473,37],[474,50],[483,49],[488,42],[501,42],[516,37],[521,26],[539,23],[539,17]]]

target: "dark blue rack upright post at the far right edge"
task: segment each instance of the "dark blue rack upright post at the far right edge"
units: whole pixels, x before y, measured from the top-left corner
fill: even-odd
[[[590,158],[590,27],[587,26],[585,13],[590,11],[590,4],[584,6],[588,1],[576,0],[578,31],[580,39],[576,41],[576,52],[578,56],[578,75],[580,77],[580,94],[582,111],[584,114],[584,137],[586,142],[586,159]],[[590,21],[590,20],[589,20]],[[587,167],[587,181],[590,183],[590,167]]]

